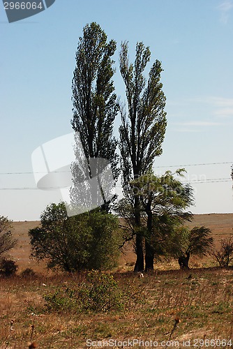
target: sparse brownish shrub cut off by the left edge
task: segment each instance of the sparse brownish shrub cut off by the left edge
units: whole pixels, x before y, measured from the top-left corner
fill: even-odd
[[[17,240],[13,238],[11,222],[7,217],[0,216],[0,255],[15,247]]]

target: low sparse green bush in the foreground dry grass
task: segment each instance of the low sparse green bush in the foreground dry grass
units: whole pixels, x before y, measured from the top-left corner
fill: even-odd
[[[121,290],[111,274],[91,271],[87,282],[66,285],[45,295],[45,306],[49,311],[93,311],[95,313],[120,310]]]

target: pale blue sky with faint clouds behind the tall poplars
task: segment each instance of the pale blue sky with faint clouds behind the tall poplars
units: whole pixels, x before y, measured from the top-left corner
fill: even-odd
[[[167,132],[156,172],[186,168],[194,213],[233,212],[233,0],[56,0],[10,24],[0,3],[0,215],[36,220],[59,200],[23,188],[36,187],[33,150],[72,131],[75,51],[90,22],[117,41],[114,80],[121,101],[121,41],[128,40],[131,61],[137,41],[150,47],[151,64],[162,61]]]

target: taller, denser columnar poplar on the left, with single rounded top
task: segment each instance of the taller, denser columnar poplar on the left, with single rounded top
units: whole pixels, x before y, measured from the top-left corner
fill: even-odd
[[[87,192],[87,188],[79,185],[80,182],[96,176],[96,171],[91,168],[91,158],[107,159],[111,163],[115,181],[119,175],[117,140],[113,136],[114,119],[119,111],[112,80],[114,75],[112,56],[116,47],[114,40],[107,42],[105,31],[95,22],[84,27],[83,36],[77,45],[72,83],[71,124],[73,130],[79,133],[84,149],[84,154],[80,154],[80,144],[77,144],[77,163],[73,165],[76,188],[74,186],[71,197],[77,204],[79,196],[83,198],[80,191]],[[101,187],[100,190],[105,202],[105,193]],[[107,202],[105,202],[106,207]]]

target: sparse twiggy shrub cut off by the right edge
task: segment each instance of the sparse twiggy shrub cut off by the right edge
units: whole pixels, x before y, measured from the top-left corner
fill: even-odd
[[[220,267],[229,267],[233,260],[233,235],[228,239],[220,240],[220,250],[213,251],[213,258],[218,262]]]

